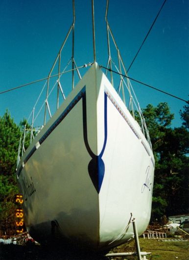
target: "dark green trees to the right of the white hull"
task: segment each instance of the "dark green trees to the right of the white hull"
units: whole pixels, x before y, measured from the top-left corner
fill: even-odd
[[[148,104],[142,113],[155,157],[151,221],[189,213],[189,105],[180,110],[177,128],[167,103]]]

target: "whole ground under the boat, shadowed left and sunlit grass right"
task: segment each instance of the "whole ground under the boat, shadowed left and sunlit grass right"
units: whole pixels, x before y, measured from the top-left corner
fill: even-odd
[[[179,241],[164,239],[143,239],[140,238],[141,251],[151,252],[147,256],[148,260],[189,260],[189,240]],[[114,252],[133,252],[135,251],[134,241],[114,248]],[[123,260],[114,258],[114,260]],[[45,248],[40,245],[4,245],[0,244],[0,260],[104,260],[107,258],[86,252],[75,252],[72,248],[64,251],[63,249]],[[128,260],[137,260],[137,257],[127,257]]]

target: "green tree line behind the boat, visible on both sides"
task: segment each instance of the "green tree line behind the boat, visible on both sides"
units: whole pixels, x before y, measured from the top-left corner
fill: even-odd
[[[148,104],[142,113],[155,157],[151,221],[189,213],[189,105],[180,110],[182,125],[177,128],[171,128],[174,114],[167,103]],[[0,234],[15,233],[15,172],[25,124],[25,119],[16,124],[8,110],[0,116]]]

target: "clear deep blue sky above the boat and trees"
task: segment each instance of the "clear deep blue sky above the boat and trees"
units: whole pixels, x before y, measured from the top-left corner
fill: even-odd
[[[126,68],[138,51],[164,0],[110,0],[108,20]],[[94,0],[96,57],[106,66],[106,0]],[[75,61],[93,62],[91,0],[75,0]],[[0,0],[0,91],[45,78],[72,22],[72,0]],[[65,64],[71,57],[71,38]],[[189,1],[167,0],[129,76],[182,99],[189,95]],[[44,82],[0,95],[19,123],[27,118]],[[141,107],[167,102],[181,126],[186,104],[132,82]],[[66,85],[66,93],[68,92]]]

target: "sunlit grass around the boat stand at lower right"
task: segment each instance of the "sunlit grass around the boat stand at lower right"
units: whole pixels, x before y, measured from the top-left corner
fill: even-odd
[[[151,252],[146,258],[148,260],[189,260],[189,240],[184,241],[162,241],[158,239],[143,239],[140,238],[141,251]],[[114,248],[111,252],[133,252],[135,249],[135,242],[131,241]],[[117,258],[119,259],[119,258]],[[130,260],[136,260],[137,257],[130,257]]]

